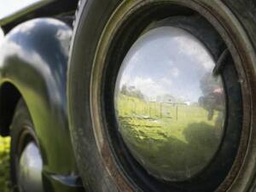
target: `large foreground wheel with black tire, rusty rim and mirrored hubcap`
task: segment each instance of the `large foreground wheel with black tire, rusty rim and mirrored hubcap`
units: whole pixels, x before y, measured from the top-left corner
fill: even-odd
[[[67,94],[88,191],[253,190],[251,3],[80,2]]]

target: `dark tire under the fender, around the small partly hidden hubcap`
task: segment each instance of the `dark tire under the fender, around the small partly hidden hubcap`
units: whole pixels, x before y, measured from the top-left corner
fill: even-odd
[[[17,192],[27,192],[26,189],[23,189],[23,187],[21,187],[21,185],[23,186],[24,183],[20,182],[18,178],[20,172],[19,162],[21,154],[26,149],[26,146],[29,143],[34,143],[36,146],[38,146],[38,141],[33,128],[30,113],[26,107],[26,103],[22,99],[20,99],[17,107],[15,108],[15,115],[11,125],[10,137],[10,172],[13,190]],[[27,162],[27,164],[29,164],[29,162]],[[31,189],[37,189],[37,191],[42,191],[42,183],[39,183],[40,189],[38,189],[37,187],[34,188],[34,186],[37,184],[38,183],[32,183]]]

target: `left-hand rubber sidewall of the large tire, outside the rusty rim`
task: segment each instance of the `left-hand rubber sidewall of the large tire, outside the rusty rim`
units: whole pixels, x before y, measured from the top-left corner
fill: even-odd
[[[97,151],[96,140],[92,121],[90,119],[90,71],[94,60],[96,46],[101,33],[108,21],[108,18],[116,9],[120,1],[110,0],[84,0],[81,1],[79,11],[76,16],[76,23],[69,63],[81,63],[77,67],[68,69],[68,108],[70,118],[70,129],[73,140],[73,148],[76,160],[79,164],[79,172],[82,174],[84,187],[91,192],[116,192],[119,191],[105,168],[101,154]],[[90,27],[88,27],[90,26]],[[84,37],[80,39],[79,37]],[[70,66],[70,65],[69,65]],[[81,73],[80,73],[81,72]],[[86,74],[86,75],[84,75]],[[79,75],[79,78],[77,75]],[[83,84],[80,84],[83,82]],[[80,94],[73,95],[73,90],[79,90]],[[76,98],[76,101],[72,102]],[[87,98],[87,99],[86,99]],[[74,106],[75,105],[75,106]],[[89,112],[89,113],[88,113]],[[79,114],[79,115],[77,115]],[[84,127],[86,125],[86,128]],[[76,129],[81,127],[81,129]],[[84,128],[82,128],[84,127]],[[81,137],[84,139],[80,140]],[[84,160],[84,154],[87,160]],[[84,174],[85,173],[85,174]]]

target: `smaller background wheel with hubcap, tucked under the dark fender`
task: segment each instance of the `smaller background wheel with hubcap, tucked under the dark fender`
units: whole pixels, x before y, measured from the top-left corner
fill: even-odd
[[[43,160],[32,119],[23,100],[17,104],[11,125],[11,179],[17,192],[43,192]]]

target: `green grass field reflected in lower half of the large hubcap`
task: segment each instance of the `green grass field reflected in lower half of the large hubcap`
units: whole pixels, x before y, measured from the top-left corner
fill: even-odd
[[[220,143],[221,112],[208,119],[207,110],[196,105],[145,102],[125,95],[119,96],[117,106],[125,143],[154,176],[185,172],[189,177],[207,165]]]

